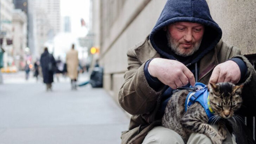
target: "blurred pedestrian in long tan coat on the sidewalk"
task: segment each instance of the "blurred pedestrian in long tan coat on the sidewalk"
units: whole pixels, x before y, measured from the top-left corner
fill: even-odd
[[[75,50],[75,45],[72,44],[71,50],[67,52],[66,54],[66,65],[67,65],[67,71],[68,76],[71,79],[71,90],[76,90],[77,85],[77,77],[78,77],[78,52]]]

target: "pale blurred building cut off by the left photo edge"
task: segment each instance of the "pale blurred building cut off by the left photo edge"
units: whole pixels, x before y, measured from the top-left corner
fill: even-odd
[[[0,44],[4,48],[4,67],[11,66],[13,59],[13,27],[12,11],[14,9],[12,0],[0,0]]]

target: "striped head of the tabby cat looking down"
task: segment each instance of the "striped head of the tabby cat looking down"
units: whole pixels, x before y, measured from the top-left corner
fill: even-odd
[[[230,118],[242,105],[243,85],[232,83],[210,83],[210,105],[215,114],[223,118]]]

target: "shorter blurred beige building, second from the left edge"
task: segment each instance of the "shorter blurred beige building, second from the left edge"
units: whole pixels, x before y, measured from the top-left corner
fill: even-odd
[[[21,9],[13,10],[13,58],[17,68],[25,66],[25,48],[27,47],[27,15]]]

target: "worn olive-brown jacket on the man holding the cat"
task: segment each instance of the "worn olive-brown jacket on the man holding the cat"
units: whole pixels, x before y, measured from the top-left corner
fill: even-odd
[[[164,87],[159,91],[153,90],[147,83],[144,66],[147,60],[161,57],[152,47],[151,42],[145,41],[130,48],[127,52],[128,71],[125,73],[125,81],[119,91],[119,103],[128,113],[132,114],[129,130],[122,132],[122,144],[141,144],[148,131],[161,124],[161,120],[155,118],[160,106],[160,96]],[[243,99],[247,109],[255,111],[256,102],[256,72],[250,62],[241,55],[236,47],[228,46],[222,40],[215,48],[200,60],[199,82],[208,84],[213,68],[226,60],[239,57],[246,63],[248,72],[244,80]],[[247,110],[243,110],[251,114]]]

